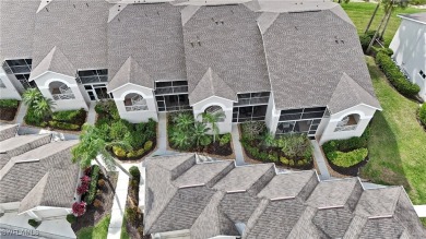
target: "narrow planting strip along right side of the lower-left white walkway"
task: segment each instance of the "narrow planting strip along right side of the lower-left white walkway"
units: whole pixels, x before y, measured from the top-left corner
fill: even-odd
[[[141,172],[132,166],[129,169],[132,178],[129,179],[126,213],[121,226],[121,239],[150,239],[151,235],[143,235],[143,214],[139,208],[139,182]]]

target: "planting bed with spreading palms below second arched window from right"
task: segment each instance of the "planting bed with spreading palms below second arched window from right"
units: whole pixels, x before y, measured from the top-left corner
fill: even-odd
[[[178,151],[230,155],[233,153],[232,138],[229,133],[220,135],[218,115],[206,113],[200,117],[205,120],[196,121],[191,111],[169,113],[167,123],[169,146]]]

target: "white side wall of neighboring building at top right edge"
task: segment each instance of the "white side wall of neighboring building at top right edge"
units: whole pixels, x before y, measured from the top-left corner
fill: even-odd
[[[421,97],[426,100],[426,24],[403,19],[390,46],[393,59],[406,71],[411,81],[421,86]]]

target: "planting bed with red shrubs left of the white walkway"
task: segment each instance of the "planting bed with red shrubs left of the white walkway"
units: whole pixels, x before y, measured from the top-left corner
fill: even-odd
[[[92,167],[92,170],[93,168],[94,167]],[[93,178],[95,177],[92,177],[92,179]],[[82,195],[82,201],[87,203],[84,214],[78,216],[75,222],[71,224],[71,227],[75,232],[83,228],[95,226],[99,220],[110,214],[118,174],[109,171],[108,177],[105,177],[105,175],[99,171],[98,177],[96,178],[96,183],[94,183],[95,188],[92,189],[91,187],[87,192]],[[91,192],[93,192],[93,199],[90,199]]]

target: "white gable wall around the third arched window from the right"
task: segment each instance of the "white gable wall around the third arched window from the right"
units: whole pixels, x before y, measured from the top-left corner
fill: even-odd
[[[154,91],[140,85],[128,83],[120,88],[111,92],[116,101],[118,112],[121,119],[131,123],[146,122],[150,118],[158,121],[157,107],[155,103]],[[125,107],[125,97],[130,93],[141,95],[146,100],[147,110],[127,111]]]

